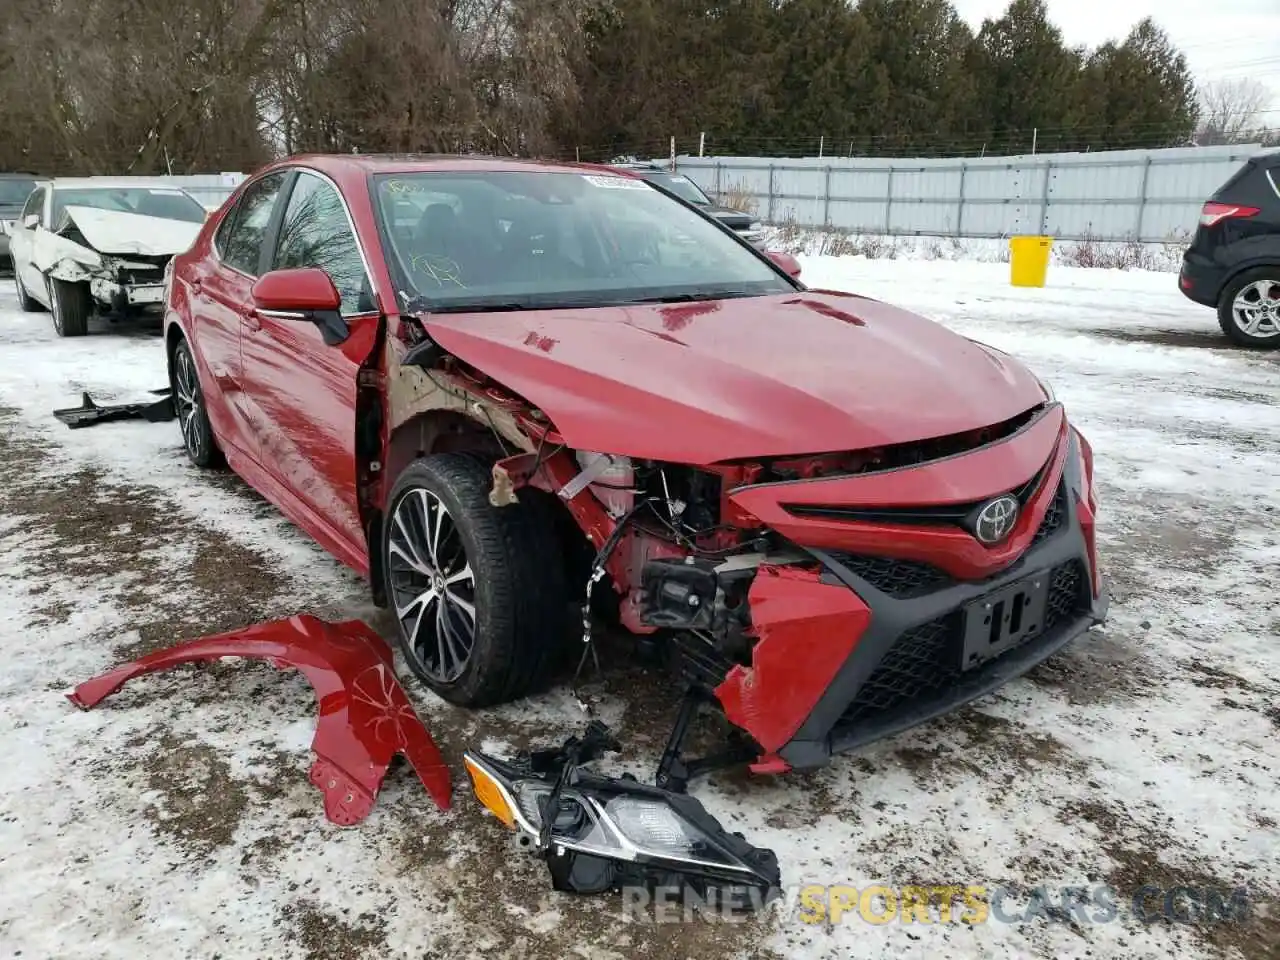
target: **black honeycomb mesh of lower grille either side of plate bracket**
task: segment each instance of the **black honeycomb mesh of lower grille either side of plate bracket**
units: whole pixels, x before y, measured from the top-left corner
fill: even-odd
[[[1050,581],[1043,630],[1034,641],[1071,620],[1083,603],[1084,571],[1078,561],[1056,567]],[[890,648],[840,718],[841,724],[914,708],[945,695],[961,676],[964,623],[960,611],[904,632]],[[1006,652],[1007,653],[1007,652]],[[997,657],[996,660],[1000,658]],[[983,667],[978,667],[983,669]]]

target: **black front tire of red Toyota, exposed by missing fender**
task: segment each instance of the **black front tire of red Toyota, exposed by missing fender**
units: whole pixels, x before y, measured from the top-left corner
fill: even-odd
[[[550,513],[529,497],[494,507],[489,503],[492,485],[490,467],[475,457],[420,457],[397,477],[383,524],[387,599],[396,616],[401,652],[419,680],[460,707],[507,703],[536,690],[572,631],[564,564]],[[413,511],[428,503],[436,511],[443,506],[453,525],[452,540],[448,530],[438,535],[438,567],[424,563],[435,571],[434,576],[417,572],[404,558],[406,529],[421,532],[422,527],[413,526]],[[439,512],[435,517],[440,524]],[[442,584],[451,572],[457,573],[456,547],[472,575],[470,602],[475,618],[470,650],[465,658],[453,658],[458,672],[449,677],[443,668],[447,644],[439,639],[440,620],[426,622],[429,612],[439,609],[422,604],[428,613],[415,622],[415,607],[406,604],[406,598],[421,596],[430,584]],[[445,552],[451,554],[448,563]],[[444,617],[449,616],[445,612]],[[465,612],[460,616],[462,621],[449,622],[465,626]],[[448,645],[452,649],[452,643]],[[458,668],[458,663],[463,666]]]

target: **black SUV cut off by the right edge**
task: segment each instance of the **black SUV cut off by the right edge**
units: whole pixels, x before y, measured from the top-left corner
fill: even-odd
[[[1280,152],[1248,160],[1201,209],[1178,274],[1242,347],[1280,347]]]

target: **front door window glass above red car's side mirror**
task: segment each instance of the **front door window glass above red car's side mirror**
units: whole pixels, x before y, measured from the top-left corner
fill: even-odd
[[[342,294],[343,314],[374,310],[365,265],[342,197],[325,180],[300,173],[280,221],[273,268],[317,266]]]

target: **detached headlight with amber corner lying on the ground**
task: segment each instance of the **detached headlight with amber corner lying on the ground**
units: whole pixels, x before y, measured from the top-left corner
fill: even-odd
[[[611,749],[617,744],[593,722],[559,750],[515,760],[468,751],[463,762],[476,797],[547,860],[556,890],[692,892],[733,913],[780,895],[773,851],[726,831],[694,797],[585,769]]]

